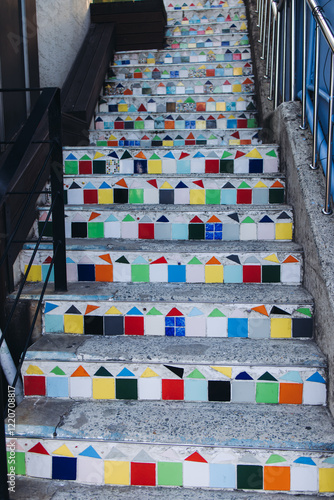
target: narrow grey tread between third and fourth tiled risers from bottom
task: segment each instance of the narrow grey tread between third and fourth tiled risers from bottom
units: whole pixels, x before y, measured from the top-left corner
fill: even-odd
[[[248,284],[198,284],[188,283],[189,299],[184,293],[184,284],[175,283],[98,283],[69,282],[68,292],[55,292],[48,284],[44,300],[99,301],[110,300],[124,302],[156,301],[160,303],[217,303],[217,304],[282,304],[311,305],[313,298],[302,286]],[[38,300],[42,283],[27,283],[22,299]]]

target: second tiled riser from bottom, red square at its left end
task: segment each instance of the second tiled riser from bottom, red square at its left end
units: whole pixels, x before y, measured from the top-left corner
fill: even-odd
[[[170,329],[175,330],[174,327]],[[25,361],[22,375],[25,396],[231,404],[326,404],[325,374],[314,368],[178,364],[178,376],[173,373],[173,366],[171,369],[167,366],[170,365],[66,363],[32,359]],[[52,370],[62,373],[52,373]],[[259,380],[264,374],[269,380]],[[323,382],[313,382],[312,376],[322,377]],[[298,382],[294,382],[295,377]]]

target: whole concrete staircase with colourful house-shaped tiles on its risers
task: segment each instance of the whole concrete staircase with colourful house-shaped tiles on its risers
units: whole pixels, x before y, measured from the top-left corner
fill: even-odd
[[[46,295],[9,456],[87,498],[333,496],[326,358],[259,139],[245,7],[172,0],[168,17],[165,50],[116,54],[91,146],[64,148],[69,290]]]

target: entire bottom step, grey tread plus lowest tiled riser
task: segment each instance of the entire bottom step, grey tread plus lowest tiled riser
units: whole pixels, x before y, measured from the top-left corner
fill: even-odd
[[[294,493],[333,489],[332,422],[322,407],[272,405],[264,412],[261,405],[236,404],[231,411],[224,403],[27,398],[16,418],[11,442],[18,472],[28,476]]]

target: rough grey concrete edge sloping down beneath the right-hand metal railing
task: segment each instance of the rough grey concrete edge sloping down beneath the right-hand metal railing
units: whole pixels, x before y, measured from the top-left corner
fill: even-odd
[[[257,104],[263,125],[263,141],[280,146],[282,171],[286,173],[288,202],[294,208],[295,241],[304,248],[303,285],[315,302],[315,339],[328,359],[328,405],[334,415],[334,219],[321,213],[325,200],[322,168],[309,168],[312,157],[310,130],[301,130],[301,103],[286,102],[272,111],[265,62],[260,59],[256,1],[248,5],[249,32],[253,40],[253,64],[258,85]],[[260,122],[261,123],[261,122]]]

